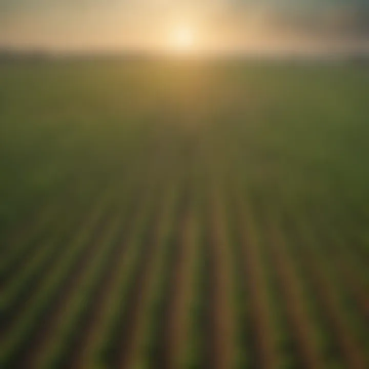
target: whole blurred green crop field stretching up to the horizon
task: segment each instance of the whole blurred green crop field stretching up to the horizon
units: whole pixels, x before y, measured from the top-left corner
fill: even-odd
[[[368,98],[364,65],[0,63],[0,367],[368,367]]]

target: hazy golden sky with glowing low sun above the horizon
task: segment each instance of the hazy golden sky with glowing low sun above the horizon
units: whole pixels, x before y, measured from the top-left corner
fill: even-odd
[[[369,0],[0,0],[2,48],[250,51],[368,45]]]

